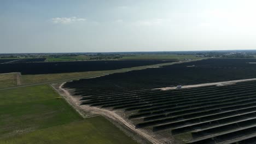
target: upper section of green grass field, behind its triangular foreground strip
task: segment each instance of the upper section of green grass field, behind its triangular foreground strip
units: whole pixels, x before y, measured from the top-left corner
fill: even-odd
[[[0,105],[0,137],[82,119],[48,85],[1,91]]]

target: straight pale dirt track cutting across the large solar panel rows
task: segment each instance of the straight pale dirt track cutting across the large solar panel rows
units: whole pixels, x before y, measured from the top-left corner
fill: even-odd
[[[237,82],[246,82],[246,81],[256,81],[256,78],[253,79],[242,79],[242,80],[232,80],[232,81],[220,81],[220,82],[210,82],[210,83],[201,83],[196,85],[184,85],[179,89],[182,88],[195,88],[195,87],[205,87],[205,86],[226,86],[226,85],[234,85]],[[161,91],[167,91],[171,89],[177,89],[177,87],[160,87],[160,88],[154,88],[154,89],[160,89]]]

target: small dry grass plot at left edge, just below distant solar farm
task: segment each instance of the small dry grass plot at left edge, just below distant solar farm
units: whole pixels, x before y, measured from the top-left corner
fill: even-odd
[[[0,74],[0,88],[17,86],[17,74]]]

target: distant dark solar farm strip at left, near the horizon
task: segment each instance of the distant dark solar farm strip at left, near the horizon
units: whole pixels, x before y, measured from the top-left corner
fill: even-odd
[[[174,62],[173,60],[37,62],[42,59],[43,58],[18,59],[16,61],[11,61],[11,63],[6,63],[5,59],[3,60],[3,63],[1,63],[0,59],[0,73],[14,73],[17,71],[22,75],[74,73],[83,71],[116,70]]]

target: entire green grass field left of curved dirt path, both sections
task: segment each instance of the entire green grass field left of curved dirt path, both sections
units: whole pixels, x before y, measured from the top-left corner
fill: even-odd
[[[83,119],[48,85],[0,91],[0,143],[135,143],[103,117]]]

